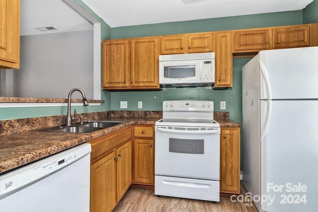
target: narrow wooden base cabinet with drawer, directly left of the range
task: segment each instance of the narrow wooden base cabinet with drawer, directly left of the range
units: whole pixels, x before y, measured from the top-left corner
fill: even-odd
[[[155,185],[155,139],[153,125],[133,127],[133,184]]]

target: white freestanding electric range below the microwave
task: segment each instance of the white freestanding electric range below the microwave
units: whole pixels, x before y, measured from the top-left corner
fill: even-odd
[[[220,201],[220,124],[211,101],[164,101],[155,124],[155,195]]]

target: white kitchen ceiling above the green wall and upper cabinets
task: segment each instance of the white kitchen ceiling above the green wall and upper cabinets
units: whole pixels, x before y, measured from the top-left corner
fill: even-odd
[[[110,27],[305,8],[313,0],[82,0]]]

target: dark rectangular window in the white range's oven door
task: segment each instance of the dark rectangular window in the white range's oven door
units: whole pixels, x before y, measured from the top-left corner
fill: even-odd
[[[204,154],[204,140],[169,138],[169,152]]]

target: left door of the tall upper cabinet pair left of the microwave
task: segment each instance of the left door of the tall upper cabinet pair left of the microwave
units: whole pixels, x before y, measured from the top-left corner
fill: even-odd
[[[103,41],[102,87],[128,87],[130,71],[129,49],[127,40]]]

